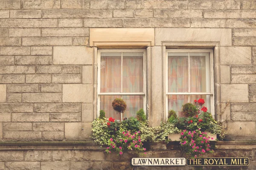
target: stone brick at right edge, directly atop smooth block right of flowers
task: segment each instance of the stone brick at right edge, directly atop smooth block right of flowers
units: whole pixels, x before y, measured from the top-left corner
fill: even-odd
[[[256,121],[256,112],[231,112],[234,121]]]

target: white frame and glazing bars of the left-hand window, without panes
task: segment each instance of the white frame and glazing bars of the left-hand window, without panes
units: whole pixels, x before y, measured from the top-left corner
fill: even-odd
[[[143,52],[143,92],[140,93],[122,93],[122,65],[121,65],[121,93],[101,93],[100,92],[100,62],[101,62],[101,53],[106,53],[106,52],[119,52],[119,53],[125,53],[125,52]],[[122,55],[121,55],[122,57]],[[123,57],[122,57],[123,58]],[[121,63],[122,63],[122,59],[121,59]],[[143,110],[146,113],[146,50],[144,49],[100,49],[98,50],[98,54],[97,54],[97,67],[98,67],[98,77],[97,77],[97,81],[98,81],[98,85],[97,85],[97,117],[99,117],[99,111],[100,111],[100,95],[132,95],[132,96],[143,96]],[[122,116],[122,114],[121,114]],[[121,117],[122,119],[122,117]]]

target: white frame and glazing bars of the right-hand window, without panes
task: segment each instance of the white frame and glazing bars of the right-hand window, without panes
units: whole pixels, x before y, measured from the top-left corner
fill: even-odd
[[[206,93],[195,93],[195,92],[190,92],[190,63],[189,63],[189,92],[172,92],[169,93],[168,92],[168,52],[171,53],[180,53],[180,52],[184,52],[184,53],[209,53],[209,65],[210,65],[210,92],[206,92]],[[190,57],[190,55],[189,55]],[[211,114],[213,117],[215,117],[215,106],[214,106],[214,70],[213,70],[213,50],[212,49],[166,49],[166,120],[168,119],[168,95],[210,95],[210,105],[211,105]],[[189,60],[188,60],[189,62]],[[189,101],[191,102],[191,101]]]

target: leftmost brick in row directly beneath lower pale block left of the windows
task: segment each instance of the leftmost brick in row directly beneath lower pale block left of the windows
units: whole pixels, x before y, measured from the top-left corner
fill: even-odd
[[[0,104],[1,113],[9,112],[33,112],[33,104],[30,103],[15,103],[15,104]]]

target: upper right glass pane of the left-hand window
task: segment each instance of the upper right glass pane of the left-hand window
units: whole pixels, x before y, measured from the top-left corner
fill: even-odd
[[[143,53],[123,53],[122,92],[143,92]]]

